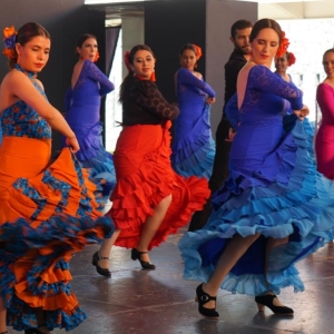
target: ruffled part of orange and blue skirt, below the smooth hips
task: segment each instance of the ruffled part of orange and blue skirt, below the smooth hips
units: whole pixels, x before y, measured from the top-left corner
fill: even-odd
[[[49,330],[70,331],[86,318],[69,284],[68,263],[114,232],[110,218],[101,216],[98,193],[68,148],[39,175],[2,185],[0,291],[9,326],[37,327],[36,307],[43,310]]]

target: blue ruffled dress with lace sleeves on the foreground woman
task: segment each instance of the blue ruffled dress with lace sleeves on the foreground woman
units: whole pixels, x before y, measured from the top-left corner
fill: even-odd
[[[295,263],[333,239],[333,183],[316,171],[310,124],[286,114],[284,99],[294,110],[303,106],[294,85],[254,66],[238,115],[236,98],[228,102],[226,112],[238,122],[230,176],[214,195],[207,225],[179,243],[185,278],[207,282],[229,238],[259,233],[220,287],[248,295],[278,294],[286,286],[299,292],[304,285]],[[288,237],[288,243],[271,252],[265,277],[268,237]]]

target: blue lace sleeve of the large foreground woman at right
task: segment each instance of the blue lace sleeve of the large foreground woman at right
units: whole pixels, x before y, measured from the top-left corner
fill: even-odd
[[[294,110],[302,109],[303,92],[294,84],[286,82],[267,67],[261,65],[254,66],[249,71],[249,76],[253,78],[256,89],[277,95],[288,100]]]

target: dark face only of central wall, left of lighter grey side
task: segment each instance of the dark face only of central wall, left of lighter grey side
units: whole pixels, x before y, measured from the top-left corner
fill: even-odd
[[[170,0],[145,3],[145,43],[157,59],[157,85],[168,101],[176,101],[174,73],[179,69],[178,53],[195,43],[205,55],[206,0]],[[196,69],[205,78],[205,60]]]

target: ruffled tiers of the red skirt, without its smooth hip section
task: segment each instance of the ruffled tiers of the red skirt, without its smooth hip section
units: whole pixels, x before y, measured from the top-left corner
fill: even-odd
[[[164,128],[160,147],[147,154],[135,173],[118,177],[111,194],[109,212],[116,227],[121,229],[115,245],[137,247],[143,224],[153,215],[154,207],[171,194],[171,204],[158,232],[149,245],[149,249],[163,243],[169,234],[190,220],[195,210],[203,208],[209,197],[205,178],[181,178],[170,167],[170,122]],[[127,157],[129,158],[129,157]],[[117,164],[116,164],[117,169]]]

